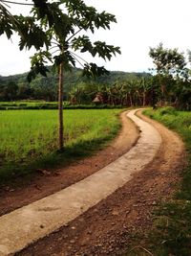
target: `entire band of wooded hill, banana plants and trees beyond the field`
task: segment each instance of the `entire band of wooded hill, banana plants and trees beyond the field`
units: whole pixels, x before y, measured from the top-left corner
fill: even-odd
[[[190,52],[191,59],[191,52]],[[110,72],[96,80],[82,78],[81,69],[64,75],[64,101],[70,105],[175,105],[191,110],[191,76],[184,56],[162,44],[151,48],[156,65],[149,73]],[[0,101],[57,101],[57,73],[50,68],[48,77],[38,76],[31,83],[27,74],[0,77]]]

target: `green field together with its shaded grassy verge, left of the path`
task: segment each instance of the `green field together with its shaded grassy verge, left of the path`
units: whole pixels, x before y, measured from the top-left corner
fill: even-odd
[[[64,110],[65,151],[56,151],[57,110],[0,111],[0,184],[37,168],[91,155],[117,135],[119,109]],[[35,173],[35,172],[33,172]]]

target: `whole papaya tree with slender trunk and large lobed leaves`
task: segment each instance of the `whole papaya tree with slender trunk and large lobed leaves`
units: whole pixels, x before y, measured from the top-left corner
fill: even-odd
[[[2,0],[3,1],[3,0]],[[2,2],[1,1],[1,2]],[[108,73],[96,63],[88,63],[80,57],[89,53],[94,57],[110,60],[120,54],[119,47],[108,45],[104,41],[92,42],[90,34],[100,28],[110,30],[110,25],[117,22],[115,15],[108,12],[97,12],[96,8],[87,6],[83,0],[32,0],[32,12],[29,16],[3,13],[8,19],[9,27],[0,21],[0,35],[4,32],[11,37],[12,31],[20,35],[19,48],[35,47],[32,57],[32,68],[28,75],[32,81],[38,74],[47,75],[47,64],[52,62],[58,70],[58,109],[59,140],[58,147],[63,145],[63,83],[64,71],[70,70],[76,63],[83,67],[83,76],[96,77]]]

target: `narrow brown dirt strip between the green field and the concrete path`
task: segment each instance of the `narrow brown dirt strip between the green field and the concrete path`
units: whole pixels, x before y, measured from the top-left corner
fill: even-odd
[[[30,184],[20,184],[16,188],[6,187],[0,191],[0,216],[27,205],[37,199],[44,198],[64,189],[75,182],[96,173],[102,167],[116,160],[129,151],[138,140],[138,128],[126,118],[120,116],[122,128],[113,143],[92,157],[80,160],[66,168],[53,172],[42,171],[32,179]]]

